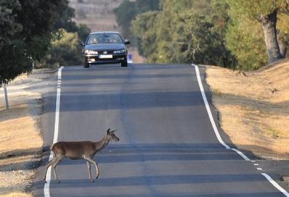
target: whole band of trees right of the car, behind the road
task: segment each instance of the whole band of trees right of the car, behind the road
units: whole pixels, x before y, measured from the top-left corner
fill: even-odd
[[[125,0],[114,13],[148,62],[252,70],[288,56],[286,0]]]

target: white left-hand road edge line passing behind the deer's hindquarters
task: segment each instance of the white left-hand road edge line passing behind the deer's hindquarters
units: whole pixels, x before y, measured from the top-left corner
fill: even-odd
[[[61,82],[61,71],[63,69],[63,66],[58,69],[58,82]],[[53,144],[57,142],[58,138],[58,129],[59,129],[59,109],[60,109],[60,93],[61,93],[61,87],[57,86],[57,94],[56,94],[56,109],[55,109],[55,123],[54,123],[54,137],[53,137]],[[50,152],[49,161],[53,158],[53,153]],[[46,175],[47,183],[44,184],[44,196],[50,197],[50,180],[51,180],[51,167],[47,170]]]

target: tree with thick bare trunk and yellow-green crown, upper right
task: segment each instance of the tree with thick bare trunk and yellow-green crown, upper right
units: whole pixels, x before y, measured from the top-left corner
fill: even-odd
[[[287,0],[227,0],[227,2],[231,12],[238,13],[238,16],[245,13],[261,24],[269,63],[283,58],[277,41],[277,14],[288,13],[289,2]]]

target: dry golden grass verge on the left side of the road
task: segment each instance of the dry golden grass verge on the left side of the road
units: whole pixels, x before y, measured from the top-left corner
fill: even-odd
[[[27,77],[18,80],[23,78]],[[32,196],[27,188],[36,176],[43,145],[38,124],[40,98],[26,91],[11,93],[7,113],[4,95],[0,94],[0,196]]]

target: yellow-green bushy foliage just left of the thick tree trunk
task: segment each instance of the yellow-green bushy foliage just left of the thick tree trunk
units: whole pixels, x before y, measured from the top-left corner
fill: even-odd
[[[258,69],[268,62],[262,28],[244,15],[233,16],[226,34],[226,47],[238,60],[238,69]],[[252,28],[254,27],[254,28]]]

